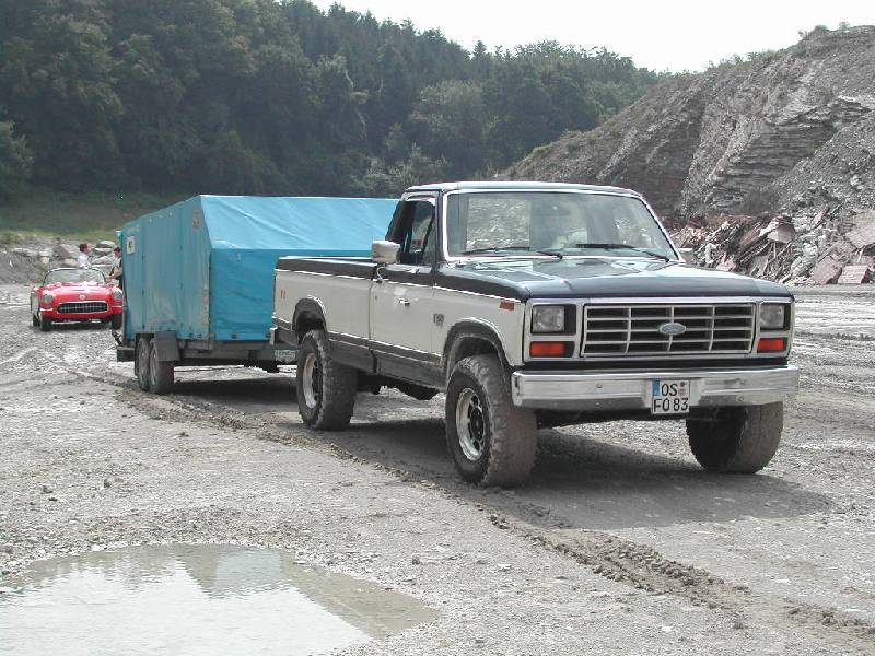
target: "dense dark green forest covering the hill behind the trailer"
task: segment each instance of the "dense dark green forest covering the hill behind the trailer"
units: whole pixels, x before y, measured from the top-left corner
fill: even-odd
[[[489,175],[655,81],[605,49],[469,52],[306,0],[0,0],[0,200],[393,196]]]

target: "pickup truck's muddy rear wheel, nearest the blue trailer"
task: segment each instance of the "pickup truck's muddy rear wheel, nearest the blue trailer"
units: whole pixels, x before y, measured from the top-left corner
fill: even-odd
[[[311,330],[301,340],[295,380],[298,410],[305,425],[317,431],[340,431],[349,425],[358,373],[331,359],[325,331]]]

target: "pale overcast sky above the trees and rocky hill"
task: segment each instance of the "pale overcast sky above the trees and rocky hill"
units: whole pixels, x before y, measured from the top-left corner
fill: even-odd
[[[323,9],[334,0],[316,0]],[[377,20],[410,19],[471,49],[550,39],[605,46],[653,70],[702,70],[733,55],[780,49],[801,30],[875,24],[875,0],[346,0]]]

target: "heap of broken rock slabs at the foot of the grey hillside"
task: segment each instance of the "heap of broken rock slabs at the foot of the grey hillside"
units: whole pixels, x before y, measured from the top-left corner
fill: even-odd
[[[674,232],[696,262],[789,284],[862,284],[875,277],[875,210],[844,216],[718,215]]]

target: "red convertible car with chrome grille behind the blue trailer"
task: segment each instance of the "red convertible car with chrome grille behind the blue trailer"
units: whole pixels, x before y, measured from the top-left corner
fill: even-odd
[[[121,290],[97,269],[52,269],[31,290],[34,326],[51,330],[59,321],[93,321],[121,328]]]

